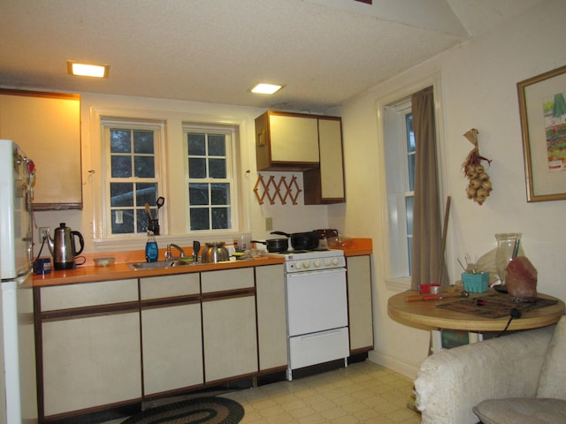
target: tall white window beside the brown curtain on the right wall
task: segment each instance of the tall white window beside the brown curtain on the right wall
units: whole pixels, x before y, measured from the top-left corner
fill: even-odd
[[[415,195],[415,134],[410,99],[386,106],[383,128],[391,276],[410,276]]]

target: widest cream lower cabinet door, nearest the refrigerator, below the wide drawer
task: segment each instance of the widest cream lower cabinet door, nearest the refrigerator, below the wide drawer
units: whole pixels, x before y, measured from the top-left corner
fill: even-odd
[[[44,415],[142,397],[139,313],[43,322]]]

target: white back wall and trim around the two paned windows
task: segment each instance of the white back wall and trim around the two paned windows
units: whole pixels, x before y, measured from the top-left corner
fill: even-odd
[[[326,207],[325,206],[304,206],[302,193],[297,199],[297,205],[293,205],[287,199],[287,204],[281,205],[279,198],[275,204],[271,205],[267,199],[264,205],[259,205],[254,193],[254,186],[258,173],[256,171],[256,150],[255,150],[255,118],[261,115],[264,110],[247,108],[232,105],[221,105],[203,102],[181,102],[164,99],[139,98],[131,96],[116,95],[93,95],[89,93],[81,94],[80,116],[81,116],[81,157],[82,157],[82,184],[83,184],[83,209],[81,211],[45,211],[35,212],[35,226],[49,226],[51,233],[58,227],[59,223],[65,222],[73,230],[80,231],[85,238],[85,253],[109,250],[137,250],[136,246],[142,250],[145,245],[145,237],[140,235],[139,242],[130,244],[124,248],[112,246],[97,246],[93,243],[93,238],[97,231],[94,225],[96,206],[100,202],[100,163],[99,146],[100,133],[96,120],[96,113],[115,114],[119,113],[126,117],[153,117],[166,121],[166,148],[169,151],[167,168],[173,169],[182,166],[182,134],[180,124],[182,122],[221,122],[231,125],[239,125],[241,128],[241,193],[239,201],[243,206],[244,213],[241,216],[241,224],[238,231],[251,232],[255,239],[269,239],[273,237],[269,231],[265,231],[265,217],[272,217],[273,229],[286,232],[310,231],[317,228],[326,228]],[[175,162],[176,161],[176,162]],[[94,170],[94,172],[90,172]],[[281,176],[287,176],[290,181],[292,175],[297,177],[300,188],[302,189],[301,173],[280,173],[263,172],[264,180],[273,175],[279,182]],[[187,238],[182,235],[184,230],[185,203],[184,197],[187,190],[183,182],[177,178],[168,180],[168,192],[164,193],[165,206],[164,214],[167,216],[169,228],[168,236],[162,235],[157,239],[158,243],[174,241],[180,246],[190,246],[189,240],[200,239],[196,236]],[[261,192],[260,192],[261,193]],[[272,192],[273,193],[273,192]],[[163,224],[163,221],[161,222]],[[164,231],[162,230],[162,234]],[[226,240],[231,242],[230,233],[219,234],[212,239]],[[134,247],[132,247],[134,246]],[[161,246],[161,245],[160,245]],[[45,248],[46,249],[46,248]],[[35,249],[37,254],[38,247]],[[46,254],[46,250],[42,252]]]

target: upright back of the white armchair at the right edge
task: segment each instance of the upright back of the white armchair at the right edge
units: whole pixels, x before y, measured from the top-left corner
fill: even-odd
[[[566,315],[556,325],[539,375],[537,398],[566,399]]]

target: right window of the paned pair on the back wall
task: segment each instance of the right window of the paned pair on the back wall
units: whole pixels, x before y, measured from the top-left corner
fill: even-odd
[[[226,231],[235,222],[235,129],[186,125],[188,231]]]

